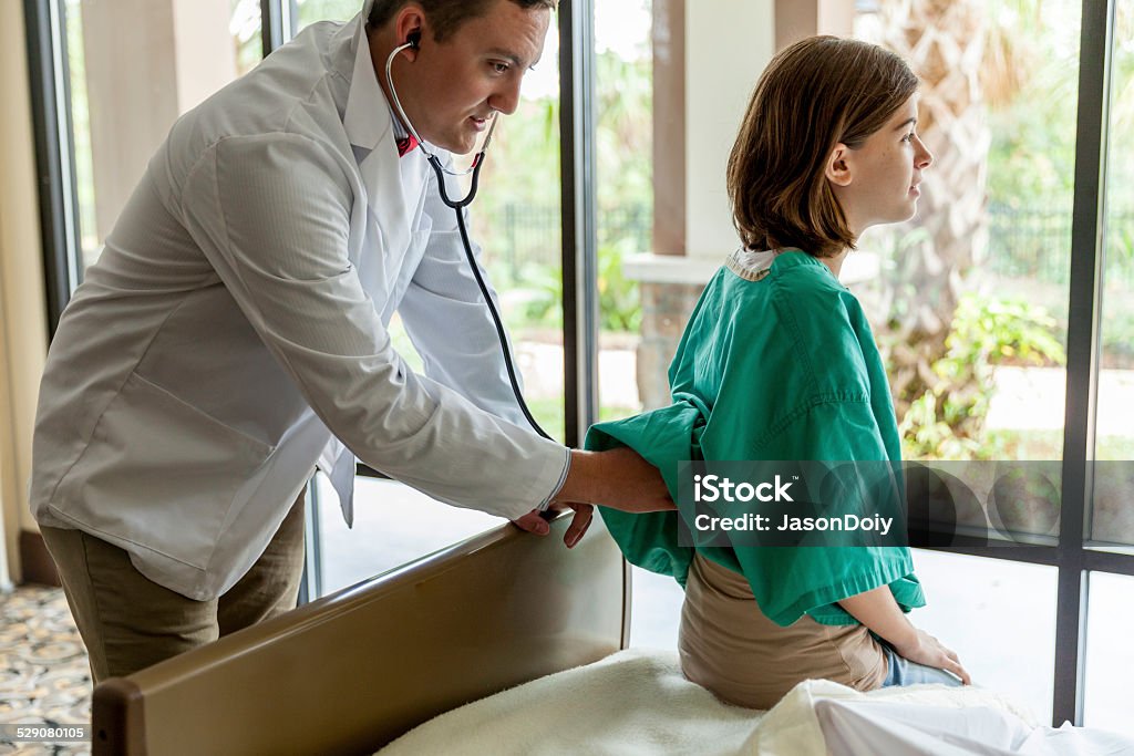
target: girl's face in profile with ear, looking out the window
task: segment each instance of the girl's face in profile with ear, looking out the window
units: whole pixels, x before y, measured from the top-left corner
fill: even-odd
[[[916,124],[914,94],[858,148],[838,144],[831,152],[827,179],[856,238],[871,226],[909,220],[917,211],[917,185],[933,155]]]

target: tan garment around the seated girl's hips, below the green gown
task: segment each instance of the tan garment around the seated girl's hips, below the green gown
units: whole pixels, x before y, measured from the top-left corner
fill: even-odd
[[[701,555],[689,567],[677,645],[685,677],[751,708],[771,708],[803,680],[873,690],[887,673],[882,647],[862,625],[804,615],[782,628],[760,611],[744,576]]]

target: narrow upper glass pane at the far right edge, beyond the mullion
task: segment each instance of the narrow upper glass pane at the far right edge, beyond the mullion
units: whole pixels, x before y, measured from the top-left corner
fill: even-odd
[[[1134,544],[1129,484],[1134,469],[1134,0],[1119,0],[1111,51],[1108,124],[1101,363],[1099,365],[1097,465],[1092,537]]]

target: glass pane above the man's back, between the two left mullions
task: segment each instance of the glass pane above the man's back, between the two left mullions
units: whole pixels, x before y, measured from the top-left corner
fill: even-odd
[[[174,120],[260,61],[260,2],[202,0],[183,14],[170,0],[66,0],[64,9],[86,269]]]

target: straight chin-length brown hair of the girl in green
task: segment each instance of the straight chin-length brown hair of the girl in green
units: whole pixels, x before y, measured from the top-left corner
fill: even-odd
[[[772,58],[728,159],[733,222],[748,249],[796,247],[815,257],[854,248],[826,178],[839,143],[862,146],[917,90],[892,52],[813,36]]]

